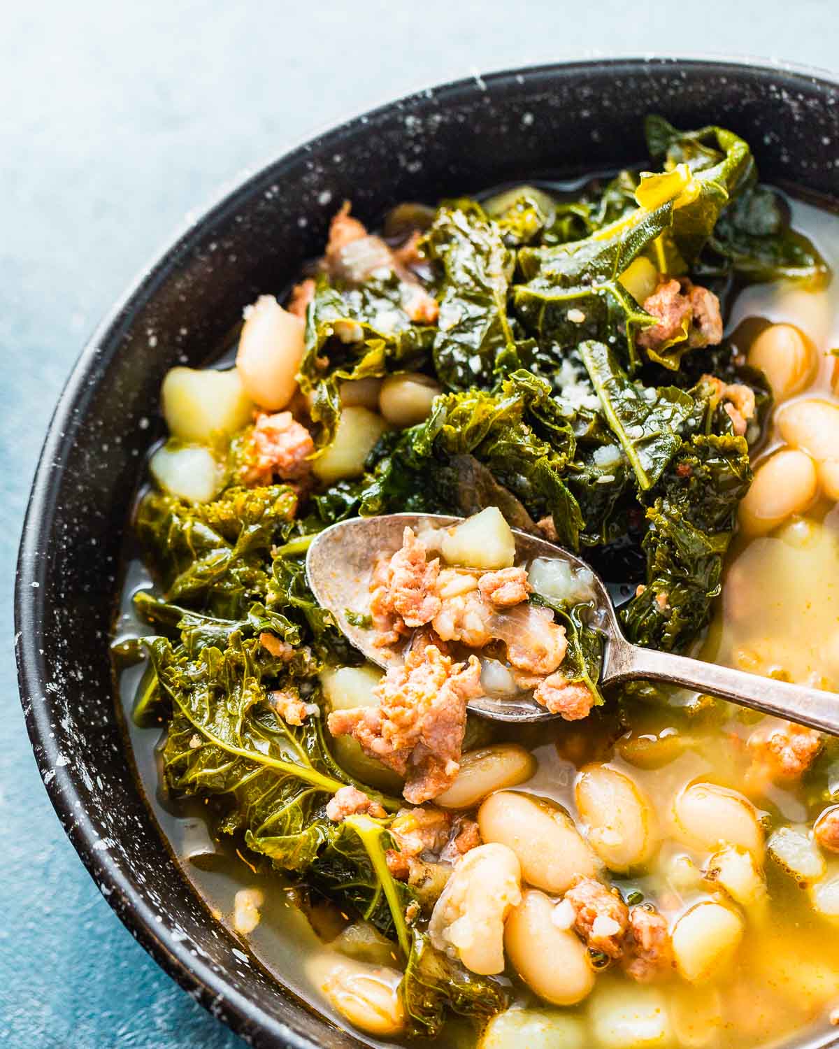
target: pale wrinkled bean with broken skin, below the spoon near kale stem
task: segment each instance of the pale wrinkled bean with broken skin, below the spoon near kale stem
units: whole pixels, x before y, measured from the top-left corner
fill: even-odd
[[[504,921],[521,901],[521,869],[507,845],[470,850],[455,864],[434,904],[428,935],[437,950],[460,959],[480,976],[504,967]]]

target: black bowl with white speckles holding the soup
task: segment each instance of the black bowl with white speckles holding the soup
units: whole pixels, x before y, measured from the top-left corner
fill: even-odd
[[[176,363],[206,361],[244,303],[285,285],[318,253],[344,198],[374,221],[400,200],[639,162],[650,111],[683,127],[731,127],[752,144],[765,179],[836,192],[839,84],[809,72],[634,59],[476,77],[349,121],[224,196],[114,306],[56,408],[16,594],[20,690],[38,765],[73,845],[131,933],[254,1045],[359,1043],[233,954],[237,941],[185,880],[134,776],[108,635],[127,508],[159,426],[160,381]]]

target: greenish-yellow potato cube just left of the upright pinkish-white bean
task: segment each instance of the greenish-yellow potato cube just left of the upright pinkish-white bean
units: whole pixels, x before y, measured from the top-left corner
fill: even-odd
[[[172,368],[160,390],[169,432],[180,441],[208,444],[251,422],[254,405],[235,368]]]

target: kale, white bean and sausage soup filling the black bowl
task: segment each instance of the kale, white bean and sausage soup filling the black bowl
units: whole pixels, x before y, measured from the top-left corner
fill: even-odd
[[[369,1044],[839,1020],[834,741],[604,694],[585,587],[510,545],[579,549],[639,643],[839,689],[839,223],[730,132],[648,133],[661,174],[404,205],[381,237],[342,209],[235,367],[164,384],[114,645],[138,774],[241,964]],[[468,520],[370,551],[353,622],[408,646],[383,678],[304,557],[405,510]],[[505,694],[557,716],[468,713]]]

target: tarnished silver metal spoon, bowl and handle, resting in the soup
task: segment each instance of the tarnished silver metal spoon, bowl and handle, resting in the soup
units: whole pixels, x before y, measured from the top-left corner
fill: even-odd
[[[348,613],[363,614],[368,608],[373,557],[382,550],[399,550],[406,524],[414,532],[421,532],[426,528],[446,528],[462,519],[442,514],[386,514],[353,518],[325,529],[311,542],[306,557],[309,586],[319,603],[336,617],[349,641],[371,662],[386,669],[402,663],[400,654],[374,647],[372,633],[347,619]],[[760,678],[715,663],[630,644],[621,633],[606,586],[585,561],[526,532],[514,530],[513,534],[519,563],[537,557],[556,558],[585,571],[591,578],[593,619],[605,638],[600,678],[602,685],[638,679],[665,681],[722,697],[761,713],[839,734],[839,695],[835,692]],[[495,721],[536,722],[558,716],[525,698],[481,698],[470,701],[469,708]]]

